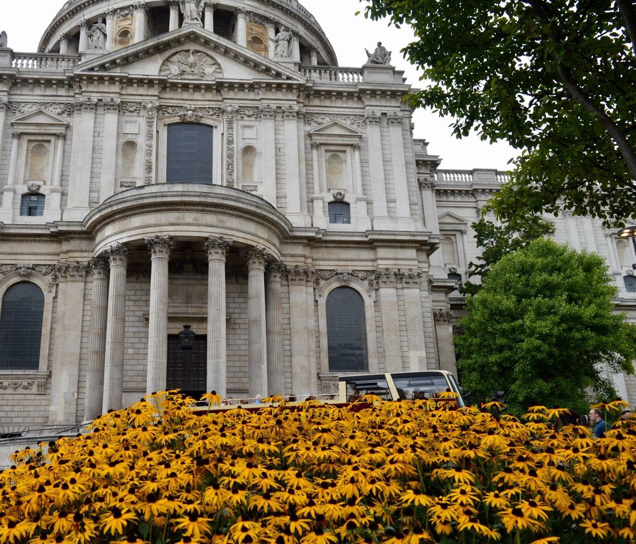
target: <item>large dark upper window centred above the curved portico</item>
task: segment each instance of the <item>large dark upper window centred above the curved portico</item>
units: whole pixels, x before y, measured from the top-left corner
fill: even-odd
[[[169,125],[166,181],[212,183],[213,135],[208,125]]]

